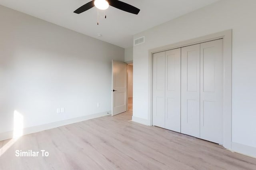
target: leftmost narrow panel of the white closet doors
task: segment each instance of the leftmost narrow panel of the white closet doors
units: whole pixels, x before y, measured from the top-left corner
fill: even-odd
[[[152,123],[165,128],[165,52],[153,54]]]

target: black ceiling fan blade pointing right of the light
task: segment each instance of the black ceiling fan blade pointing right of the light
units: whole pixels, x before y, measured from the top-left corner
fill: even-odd
[[[115,8],[118,8],[118,9],[126,11],[126,12],[130,12],[132,14],[137,15],[140,12],[140,9],[138,9],[130,4],[126,4],[125,2],[121,2],[119,0],[108,0],[108,3],[110,6],[113,6]]]

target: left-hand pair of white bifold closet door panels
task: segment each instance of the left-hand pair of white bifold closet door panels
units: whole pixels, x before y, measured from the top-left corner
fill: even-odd
[[[176,132],[180,132],[180,53],[178,48],[153,54],[153,125]]]

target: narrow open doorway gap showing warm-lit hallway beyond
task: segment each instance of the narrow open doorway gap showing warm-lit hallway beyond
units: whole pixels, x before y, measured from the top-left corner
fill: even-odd
[[[132,113],[133,101],[133,63],[127,65],[127,111]]]

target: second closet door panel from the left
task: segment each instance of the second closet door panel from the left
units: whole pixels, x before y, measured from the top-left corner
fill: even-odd
[[[180,52],[166,51],[165,128],[180,132]]]

